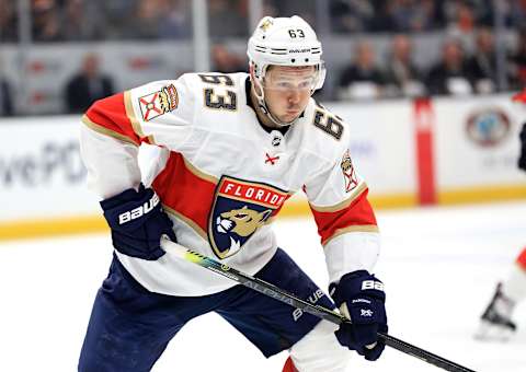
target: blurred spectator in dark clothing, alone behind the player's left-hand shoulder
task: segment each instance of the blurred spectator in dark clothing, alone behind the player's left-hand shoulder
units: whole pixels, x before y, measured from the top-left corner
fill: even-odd
[[[88,54],[81,71],[66,85],[65,100],[68,113],[82,113],[100,98],[113,94],[112,80],[99,70],[99,57]]]

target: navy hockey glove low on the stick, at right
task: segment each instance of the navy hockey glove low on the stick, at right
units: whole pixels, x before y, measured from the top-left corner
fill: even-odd
[[[330,293],[352,322],[335,332],[340,344],[367,360],[377,360],[386,347],[377,335],[387,333],[384,283],[366,270],[358,270],[344,275],[338,284],[332,283]]]

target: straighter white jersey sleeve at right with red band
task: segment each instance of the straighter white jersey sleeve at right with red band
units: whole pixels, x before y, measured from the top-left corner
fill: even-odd
[[[347,141],[348,143],[348,141]],[[330,282],[355,270],[369,272],[379,254],[379,233],[368,188],[357,174],[348,149],[319,172],[305,191],[324,248]]]

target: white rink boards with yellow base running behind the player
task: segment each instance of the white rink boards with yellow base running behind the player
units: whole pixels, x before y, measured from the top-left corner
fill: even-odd
[[[431,204],[526,198],[526,175],[516,167],[526,109],[508,95],[436,98],[420,119],[409,100],[327,106],[348,124],[351,154],[376,208],[423,204],[423,187]],[[0,148],[0,240],[104,229],[98,198],[85,186],[80,117],[0,123],[7,139]],[[306,213],[298,194],[281,216]]]

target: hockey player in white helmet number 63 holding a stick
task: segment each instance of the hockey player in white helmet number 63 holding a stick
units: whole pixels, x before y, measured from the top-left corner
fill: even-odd
[[[115,255],[99,290],[79,371],[149,371],[190,319],[216,312],[286,371],[344,371],[356,350],[380,357],[384,284],[367,186],[350,130],[312,93],[321,44],[300,18],[264,18],[249,40],[250,74],[186,73],[93,104],[83,117],[89,184],[103,199]],[[161,148],[148,174],[139,144]],[[277,247],[272,222],[302,190],[321,236],[330,293],[353,325],[334,326],[181,260],[161,236],[334,309]]]

